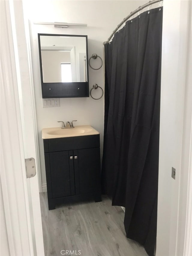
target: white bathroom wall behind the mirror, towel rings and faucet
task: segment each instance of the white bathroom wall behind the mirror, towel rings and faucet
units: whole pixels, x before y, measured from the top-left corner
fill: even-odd
[[[104,97],[100,100],[89,98],[61,98],[60,107],[43,108],[38,53],[38,33],[88,35],[88,57],[97,53],[104,60],[103,42],[116,26],[131,11],[143,5],[144,1],[27,1],[28,17],[31,20],[31,47],[35,101],[39,133],[42,183],[46,184],[44,148],[41,129],[58,127],[58,120],[78,120],[76,125],[90,124],[100,132],[101,154],[104,134]],[[87,23],[87,27],[54,28],[50,25],[34,25],[34,21]],[[93,65],[99,60],[95,60]],[[97,83],[104,89],[104,65],[95,71],[89,67],[89,89]],[[94,90],[99,97],[101,91]]]

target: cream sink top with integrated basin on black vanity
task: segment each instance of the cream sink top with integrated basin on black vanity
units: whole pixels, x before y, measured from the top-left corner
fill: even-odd
[[[91,125],[79,125],[75,128],[61,129],[61,127],[42,129],[42,139],[76,137],[99,134]]]

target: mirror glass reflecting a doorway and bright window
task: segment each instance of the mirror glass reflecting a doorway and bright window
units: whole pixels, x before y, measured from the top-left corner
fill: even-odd
[[[87,82],[86,36],[40,35],[43,83]]]

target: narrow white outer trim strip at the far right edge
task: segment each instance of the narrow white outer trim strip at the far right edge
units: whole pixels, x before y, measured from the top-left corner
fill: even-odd
[[[192,2],[188,1],[189,21],[185,78],[184,122],[180,197],[178,207],[177,256],[192,255]]]

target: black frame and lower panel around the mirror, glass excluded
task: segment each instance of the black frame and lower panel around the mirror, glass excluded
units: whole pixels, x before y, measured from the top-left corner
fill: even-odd
[[[44,83],[42,73],[41,60],[41,42],[40,36],[71,36],[71,37],[85,37],[86,39],[86,58],[87,58],[87,82],[70,82],[70,83]],[[42,98],[75,98],[75,97],[89,97],[89,76],[88,76],[88,44],[87,35],[63,35],[63,34],[40,34],[38,33],[39,45],[39,60],[41,73],[41,89]]]

